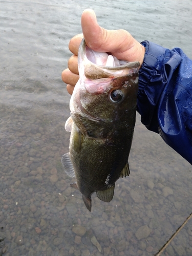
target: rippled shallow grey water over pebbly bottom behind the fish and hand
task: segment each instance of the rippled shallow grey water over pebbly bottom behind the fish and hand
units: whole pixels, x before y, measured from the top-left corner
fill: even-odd
[[[154,255],[192,212],[192,167],[137,115],[131,176],[92,212],[63,173],[70,95],[61,72],[80,15],[107,29],[180,47],[191,58],[191,0],[0,1],[0,255]],[[192,220],[161,252],[192,255]]]

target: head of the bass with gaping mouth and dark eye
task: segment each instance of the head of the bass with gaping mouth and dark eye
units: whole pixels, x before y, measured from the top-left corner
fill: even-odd
[[[84,39],[78,53],[79,81],[70,104],[72,113],[114,122],[136,108],[139,62],[119,61],[94,52]]]

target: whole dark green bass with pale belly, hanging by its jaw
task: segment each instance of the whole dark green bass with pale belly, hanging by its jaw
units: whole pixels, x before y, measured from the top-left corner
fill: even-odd
[[[70,100],[70,152],[61,162],[84,204],[91,195],[110,202],[115,182],[130,174],[127,162],[135,126],[139,62],[94,52],[82,40],[78,52],[79,80]]]

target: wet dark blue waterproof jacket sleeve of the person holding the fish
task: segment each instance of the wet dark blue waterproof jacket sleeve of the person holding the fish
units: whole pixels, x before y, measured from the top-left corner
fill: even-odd
[[[137,111],[148,130],[192,164],[192,60],[181,49],[143,41]]]

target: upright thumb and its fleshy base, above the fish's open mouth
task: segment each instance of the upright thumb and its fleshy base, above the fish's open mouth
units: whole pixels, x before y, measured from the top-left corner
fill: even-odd
[[[111,52],[118,59],[143,61],[143,46],[127,31],[106,30],[97,23],[95,12],[83,11],[81,27],[86,44],[94,51]]]

